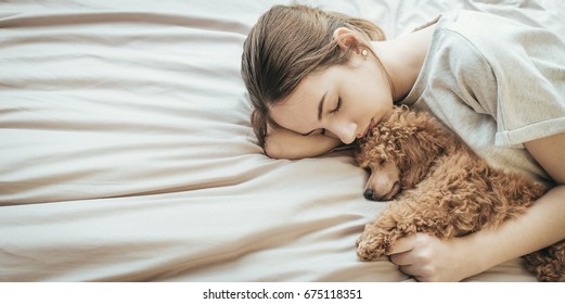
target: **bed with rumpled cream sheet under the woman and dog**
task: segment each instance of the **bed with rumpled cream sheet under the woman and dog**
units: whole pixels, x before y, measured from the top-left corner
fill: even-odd
[[[385,203],[351,150],[271,160],[242,45],[271,5],[388,37],[442,11],[565,35],[562,1],[0,2],[0,281],[411,281],[355,241]],[[535,281],[519,258],[468,281]]]

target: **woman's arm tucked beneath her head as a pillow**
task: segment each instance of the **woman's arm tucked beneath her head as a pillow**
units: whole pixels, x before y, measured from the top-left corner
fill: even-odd
[[[297,160],[321,155],[341,144],[342,141],[329,136],[303,136],[283,128],[270,128],[265,153],[272,159]]]

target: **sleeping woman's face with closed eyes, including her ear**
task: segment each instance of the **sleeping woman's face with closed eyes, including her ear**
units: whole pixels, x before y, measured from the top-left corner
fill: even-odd
[[[325,134],[351,143],[393,109],[390,87],[372,56],[352,54],[348,64],[304,78],[286,99],[270,107],[281,127]]]

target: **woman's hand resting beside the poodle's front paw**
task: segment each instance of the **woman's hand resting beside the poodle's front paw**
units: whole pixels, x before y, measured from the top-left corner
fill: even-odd
[[[460,238],[439,240],[415,233],[398,240],[387,254],[403,274],[418,281],[461,281],[486,270]]]

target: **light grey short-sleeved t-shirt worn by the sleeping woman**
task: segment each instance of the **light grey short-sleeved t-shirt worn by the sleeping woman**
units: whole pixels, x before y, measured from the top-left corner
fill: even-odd
[[[565,42],[544,28],[451,11],[402,103],[434,113],[492,166],[551,185],[523,143],[565,131]]]

